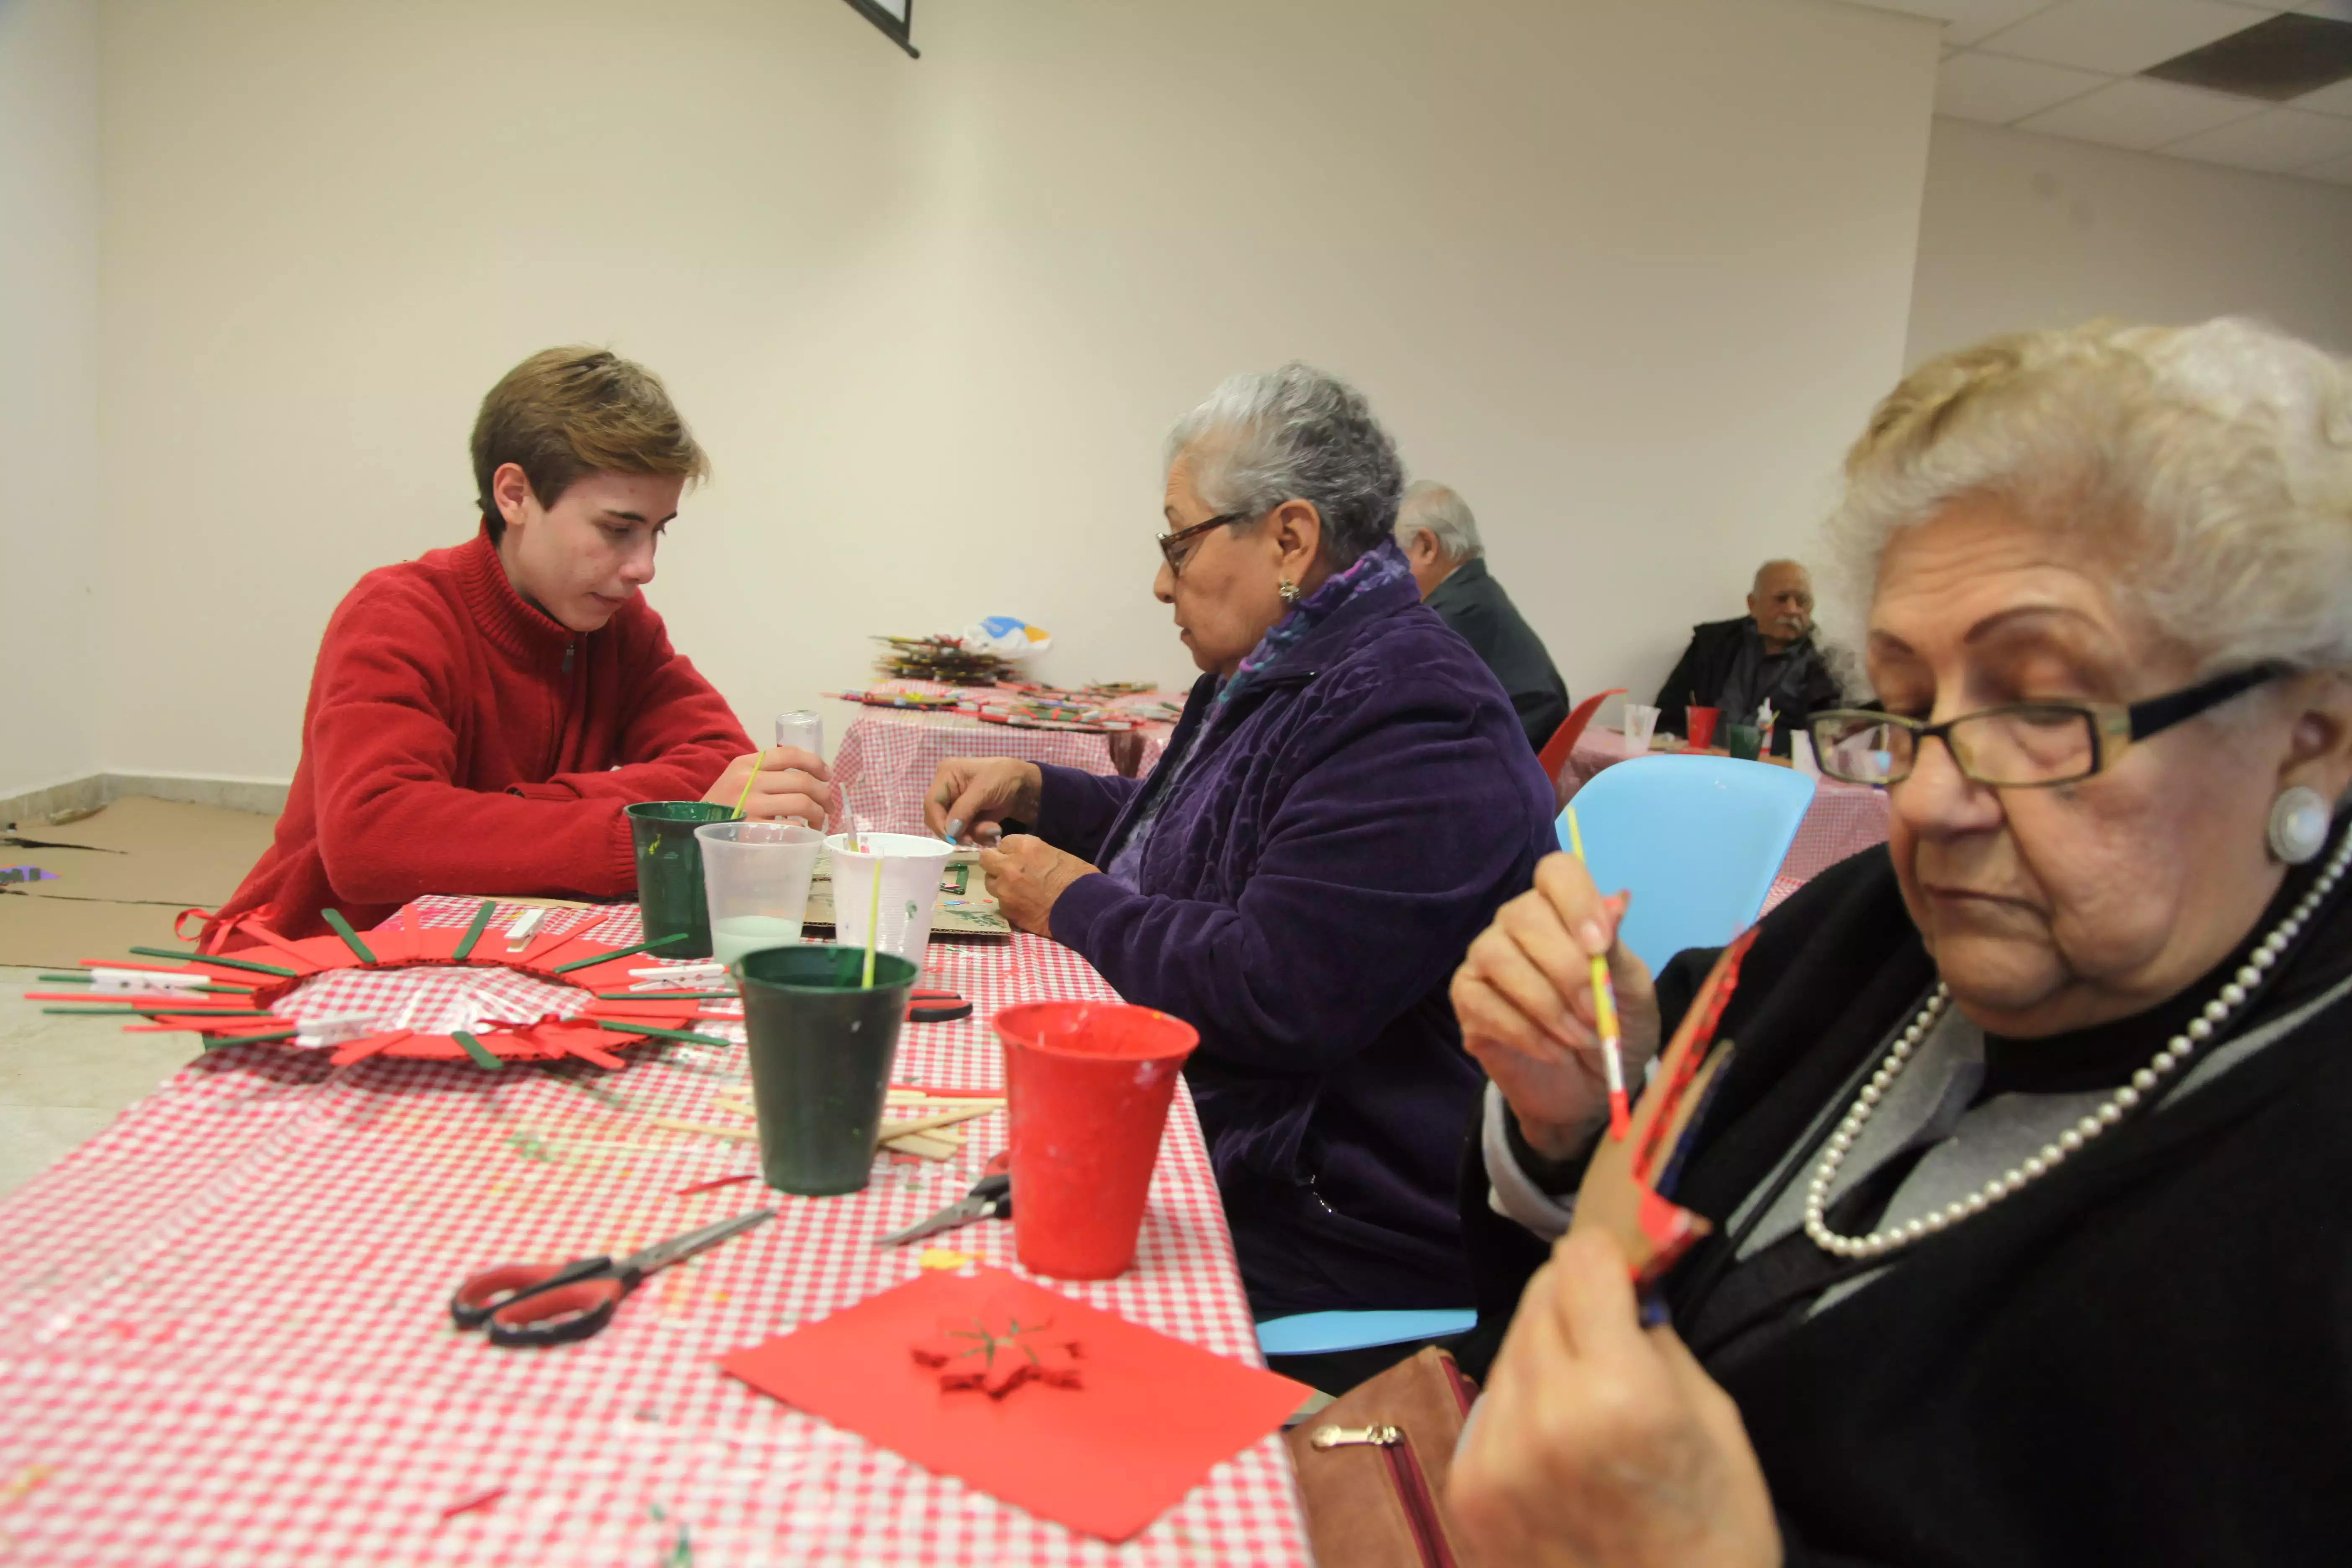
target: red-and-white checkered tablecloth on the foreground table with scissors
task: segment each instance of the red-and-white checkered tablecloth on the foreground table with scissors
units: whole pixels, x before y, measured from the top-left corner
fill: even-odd
[[[430,926],[473,910],[419,903]],[[635,907],[583,919],[637,936]],[[343,971],[320,983],[332,1006],[301,1011],[395,1009],[447,985],[419,976],[435,971]],[[1002,1084],[985,1023],[1002,1006],[1115,994],[1030,936],[934,943],[927,976],[976,1013],[908,1025],[896,1079],[924,1086]],[[743,1093],[739,1053],[628,1056],[626,1072],[586,1074],[614,1107],[527,1067],[332,1070],[325,1051],[223,1048],[0,1206],[0,1561],[1308,1563],[1272,1436],[1108,1547],[722,1375],[720,1354],[913,1279],[922,1248],[873,1237],[962,1197],[1004,1117],[964,1124],[955,1161],[882,1164],[854,1197],[684,1194],[757,1168],[755,1150],[637,1112],[729,1121],[710,1100]],[[473,1269],[630,1251],[762,1204],[776,1220],[652,1276],[579,1345],[506,1352],[449,1324]],[[946,1241],[1018,1267],[1009,1225]],[[1136,1267],[1047,1284],[1258,1363],[1188,1095]],[[506,1490],[445,1516],[492,1488]]]

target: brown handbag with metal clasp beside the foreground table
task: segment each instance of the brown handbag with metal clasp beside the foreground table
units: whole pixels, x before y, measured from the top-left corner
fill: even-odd
[[[1284,1434],[1317,1563],[1472,1568],[1444,1505],[1472,1399],[1470,1373],[1428,1345]]]

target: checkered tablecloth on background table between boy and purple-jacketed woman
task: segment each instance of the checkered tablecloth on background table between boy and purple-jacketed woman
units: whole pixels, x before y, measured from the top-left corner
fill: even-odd
[[[920,691],[950,691],[922,682],[901,682]],[[1002,701],[1004,691],[974,691],[988,701]],[[1183,701],[1152,691],[1127,698]],[[1014,729],[1011,724],[983,724],[967,712],[913,712],[898,708],[854,708],[842,745],[833,755],[833,783],[842,792],[842,823],[863,816],[877,832],[927,832],[922,802],[931,792],[931,776],[948,757],[1025,757],[1030,762],[1054,762],[1087,773],[1117,773],[1110,759],[1110,736],[1089,736],[1075,729]],[[1136,776],[1150,773],[1167,750],[1171,724],[1141,724],[1129,731],[1143,745]]]

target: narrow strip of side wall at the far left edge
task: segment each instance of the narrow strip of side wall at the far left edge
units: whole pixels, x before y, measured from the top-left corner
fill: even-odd
[[[0,0],[0,795],[96,769],[99,26]]]

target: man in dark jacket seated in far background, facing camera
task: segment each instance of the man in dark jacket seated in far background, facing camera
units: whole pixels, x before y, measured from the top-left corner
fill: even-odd
[[[1748,590],[1748,614],[1691,628],[1691,646],[1658,686],[1658,731],[1689,736],[1691,693],[1700,708],[1719,708],[1717,724],[1755,724],[1757,710],[1773,708],[1771,750],[1788,757],[1788,738],[1820,708],[1837,708],[1844,693],[1813,644],[1813,576],[1797,562],[1764,562]],[[1717,726],[1715,745],[1724,743]]]

